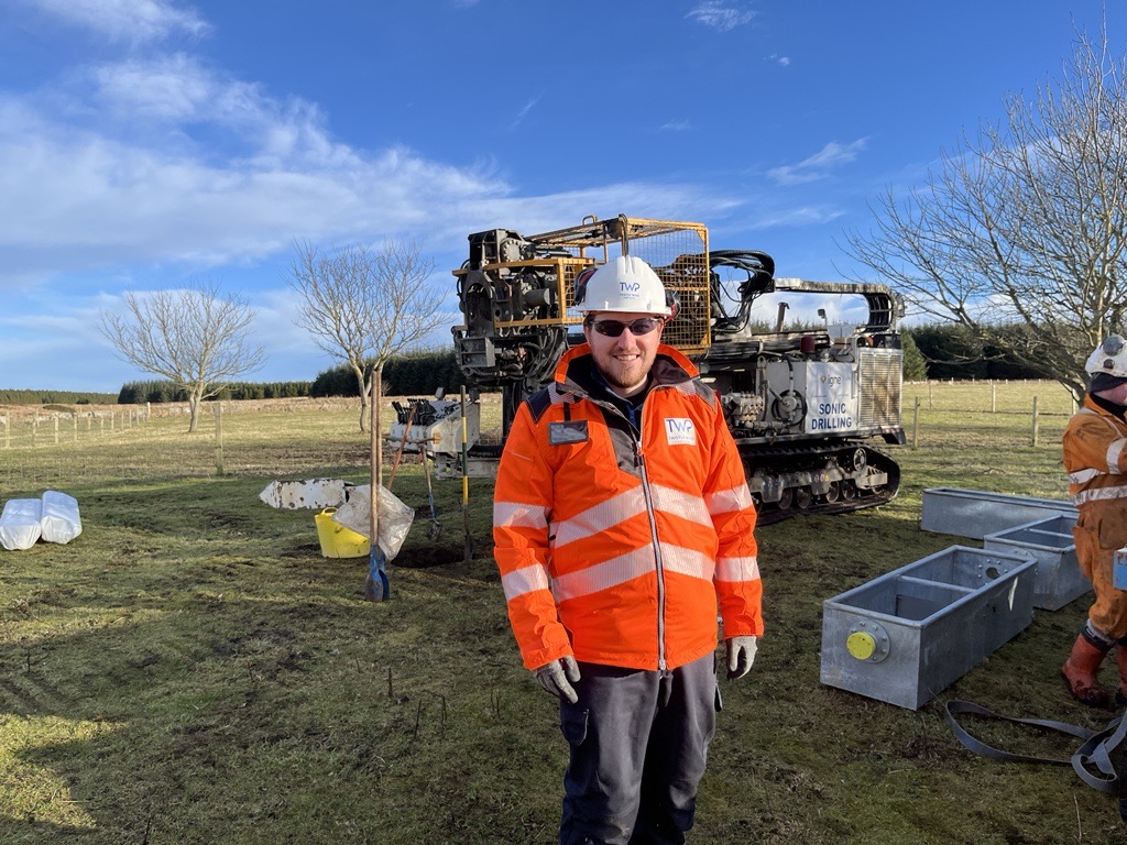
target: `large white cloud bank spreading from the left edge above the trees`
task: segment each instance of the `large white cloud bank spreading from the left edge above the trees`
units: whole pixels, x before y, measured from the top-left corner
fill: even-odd
[[[339,143],[316,106],[184,55],[59,88],[0,95],[0,288],[133,261],[248,261],[295,235],[396,237],[508,193],[485,168]]]

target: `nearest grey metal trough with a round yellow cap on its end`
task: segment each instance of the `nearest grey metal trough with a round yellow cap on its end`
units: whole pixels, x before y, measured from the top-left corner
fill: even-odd
[[[952,545],[826,599],[822,683],[919,709],[1029,625],[1036,567]]]

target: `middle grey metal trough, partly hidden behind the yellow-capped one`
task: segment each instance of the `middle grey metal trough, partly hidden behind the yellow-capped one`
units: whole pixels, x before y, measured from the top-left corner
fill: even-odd
[[[1080,571],[1076,541],[1072,530],[1075,516],[1054,516],[1006,528],[983,537],[983,548],[1001,552],[1026,553],[1037,560],[1033,579],[1033,607],[1059,611],[1092,589]]]

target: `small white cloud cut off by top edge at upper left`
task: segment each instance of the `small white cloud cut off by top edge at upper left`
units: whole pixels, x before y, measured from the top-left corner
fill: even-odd
[[[204,35],[210,28],[195,11],[166,0],[26,0],[47,15],[112,41],[158,41],[172,33]]]

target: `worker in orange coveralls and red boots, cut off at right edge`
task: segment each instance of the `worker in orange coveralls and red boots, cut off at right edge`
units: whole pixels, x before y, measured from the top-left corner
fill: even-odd
[[[1095,602],[1061,674],[1068,692],[1091,706],[1108,704],[1097,677],[1112,648],[1119,664],[1116,700],[1127,704],[1127,593],[1111,585],[1117,549],[1127,545],[1127,341],[1111,335],[1088,358],[1084,407],[1062,438],[1068,492],[1080,512],[1073,535]]]

